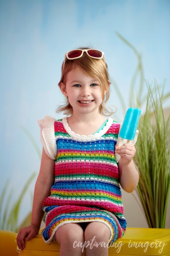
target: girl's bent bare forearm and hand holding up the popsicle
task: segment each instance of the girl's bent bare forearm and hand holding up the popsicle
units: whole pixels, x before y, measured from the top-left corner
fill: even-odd
[[[136,153],[135,146],[126,143],[123,146],[116,146],[115,152],[120,155],[119,177],[121,187],[128,193],[135,190],[139,181],[139,174],[133,163],[133,157]]]

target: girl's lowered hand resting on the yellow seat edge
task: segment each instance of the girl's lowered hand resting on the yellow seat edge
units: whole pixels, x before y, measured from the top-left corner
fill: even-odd
[[[26,237],[26,241],[29,241],[38,233],[39,233],[39,228],[36,227],[35,225],[29,225],[25,228],[21,228],[17,235],[18,248],[23,250],[25,248],[25,237]]]

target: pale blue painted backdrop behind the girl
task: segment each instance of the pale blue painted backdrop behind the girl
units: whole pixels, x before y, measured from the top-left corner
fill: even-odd
[[[38,174],[40,159],[23,127],[42,150],[37,119],[62,116],[55,109],[64,101],[58,82],[65,52],[84,45],[105,52],[110,76],[128,107],[137,59],[115,32],[139,51],[149,82],[167,79],[167,92],[169,31],[169,0],[0,0],[0,192],[9,179],[16,198],[30,175]],[[110,103],[122,121],[113,86]],[[30,198],[28,193],[21,220],[31,211]]]

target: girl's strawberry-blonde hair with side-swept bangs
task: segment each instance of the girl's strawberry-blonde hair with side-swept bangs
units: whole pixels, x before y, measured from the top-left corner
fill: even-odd
[[[89,49],[89,48],[79,48],[79,49]],[[67,73],[78,66],[83,70],[85,74],[90,77],[97,79],[102,88],[102,97],[103,101],[99,106],[99,113],[105,116],[110,116],[113,112],[106,108],[106,103],[110,96],[110,81],[107,64],[104,59],[94,59],[89,57],[85,52],[82,57],[75,60],[65,60],[64,67],[62,65],[61,79],[58,85],[61,83],[65,84],[67,81]],[[104,95],[106,91],[106,94]],[[56,112],[64,111],[65,115],[71,115],[73,113],[72,106],[70,105],[68,98],[67,102],[64,105],[61,105],[57,108]]]

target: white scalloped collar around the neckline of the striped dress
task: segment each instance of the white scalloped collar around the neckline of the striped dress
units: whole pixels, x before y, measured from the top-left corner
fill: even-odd
[[[80,135],[80,134],[77,134],[77,133],[74,133],[71,128],[68,126],[68,122],[67,122],[67,118],[68,117],[63,117],[62,119],[62,122],[63,122],[63,126],[64,126],[64,129],[67,131],[67,133],[73,138],[73,139],[77,139],[79,141],[87,141],[89,139],[97,139],[99,137],[101,137],[103,134],[106,133],[106,131],[110,128],[112,122],[113,122],[113,119],[112,118],[108,118],[107,119],[107,123],[106,125],[103,127],[102,130],[100,130],[98,133],[95,133],[95,134],[90,134],[90,135]]]

